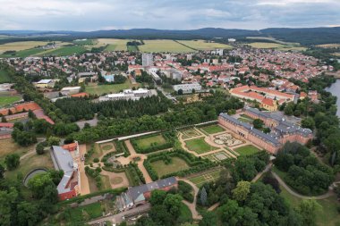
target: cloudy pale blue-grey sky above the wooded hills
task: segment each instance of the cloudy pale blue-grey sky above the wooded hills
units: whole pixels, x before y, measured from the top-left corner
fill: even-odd
[[[0,0],[0,29],[340,26],[340,0]]]

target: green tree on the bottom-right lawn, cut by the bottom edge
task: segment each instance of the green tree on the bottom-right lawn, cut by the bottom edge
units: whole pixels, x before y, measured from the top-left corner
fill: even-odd
[[[302,200],[297,207],[297,212],[302,215],[302,225],[316,225],[316,211],[322,208],[314,199]]]

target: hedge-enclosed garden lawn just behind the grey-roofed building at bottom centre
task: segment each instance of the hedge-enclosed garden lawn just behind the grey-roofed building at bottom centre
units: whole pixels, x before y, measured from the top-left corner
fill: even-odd
[[[172,162],[169,164],[164,163],[163,160],[150,163],[151,167],[155,170],[155,172],[157,172],[159,177],[172,172],[179,172],[190,168],[188,163],[186,163],[182,158],[172,157],[171,159]]]

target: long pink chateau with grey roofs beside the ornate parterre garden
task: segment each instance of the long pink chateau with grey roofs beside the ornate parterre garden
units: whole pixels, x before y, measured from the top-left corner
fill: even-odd
[[[270,113],[260,112],[254,108],[248,108],[245,114],[253,119],[261,119],[271,129],[269,134],[253,128],[250,123],[239,121],[227,113],[220,113],[218,122],[225,128],[234,131],[240,137],[251,141],[271,154],[276,154],[277,150],[285,145],[287,141],[306,144],[313,138],[312,131],[304,129],[299,125],[285,120],[285,118],[274,118]]]

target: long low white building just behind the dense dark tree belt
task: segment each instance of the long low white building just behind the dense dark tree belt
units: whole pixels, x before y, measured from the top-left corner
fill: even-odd
[[[100,96],[99,101],[109,100],[139,100],[140,97],[147,97],[154,95],[148,88],[139,88],[137,90],[124,89],[123,92],[117,94],[108,94],[106,96]]]

